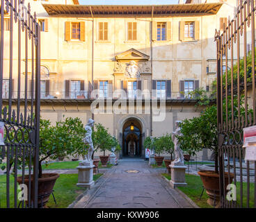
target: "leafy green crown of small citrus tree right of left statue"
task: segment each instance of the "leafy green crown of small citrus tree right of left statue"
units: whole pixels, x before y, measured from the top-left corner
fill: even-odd
[[[111,151],[113,146],[118,145],[117,139],[112,137],[108,130],[109,128],[104,128],[102,124],[96,123],[92,135],[95,151],[103,151],[104,155],[105,151]]]

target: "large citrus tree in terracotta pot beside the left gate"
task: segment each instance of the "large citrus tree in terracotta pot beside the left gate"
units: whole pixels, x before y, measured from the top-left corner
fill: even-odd
[[[40,119],[38,207],[46,205],[59,177],[58,173],[42,173],[42,162],[56,160],[59,156],[85,155],[87,152],[86,146],[83,144],[85,133],[86,130],[83,128],[83,123],[79,118],[67,118],[65,121],[58,121],[56,126],[51,126],[49,120]],[[26,161],[28,162],[29,160]],[[22,177],[18,177],[17,182],[21,184]],[[33,183],[33,176],[31,182]],[[24,183],[29,186],[29,176],[25,176]],[[33,198],[32,193],[31,198]]]

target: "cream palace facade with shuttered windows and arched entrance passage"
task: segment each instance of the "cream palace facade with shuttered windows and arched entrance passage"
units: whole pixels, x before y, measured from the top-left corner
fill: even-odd
[[[42,118],[52,123],[65,117],[79,117],[83,123],[93,118],[119,140],[120,157],[131,155],[131,146],[135,147],[133,155],[145,157],[145,137],[171,133],[175,121],[200,114],[202,108],[195,106],[189,92],[198,88],[211,91],[216,78],[215,30],[222,29],[237,11],[236,0],[154,6],[82,6],[78,0],[29,2],[41,27]],[[6,14],[7,42],[8,27]],[[4,69],[8,70],[8,51],[4,53]],[[27,74],[31,91],[31,70]],[[8,83],[3,80],[6,99]],[[13,84],[17,88],[15,71]],[[146,103],[146,94],[150,103]],[[138,98],[141,103],[133,106],[130,102]],[[93,114],[91,106],[97,99],[111,101],[111,109]],[[160,119],[159,108],[154,110],[157,99],[164,101]],[[118,111],[120,105],[126,113]],[[208,151],[198,153],[198,160],[209,157]]]

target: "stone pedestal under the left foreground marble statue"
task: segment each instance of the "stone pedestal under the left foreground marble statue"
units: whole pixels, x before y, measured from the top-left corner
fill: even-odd
[[[78,169],[78,187],[91,188],[94,185],[93,180],[93,162],[80,162]]]

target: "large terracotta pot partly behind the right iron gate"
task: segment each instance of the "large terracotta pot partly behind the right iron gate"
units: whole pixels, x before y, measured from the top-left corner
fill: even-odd
[[[202,184],[205,187],[206,193],[209,196],[207,203],[214,207],[219,207],[220,205],[220,187],[219,187],[219,174],[215,171],[198,171]],[[230,173],[230,183],[234,178],[234,174]],[[225,187],[229,184],[228,173],[225,172]],[[226,190],[227,191],[227,190]]]

